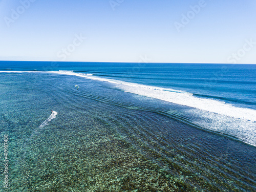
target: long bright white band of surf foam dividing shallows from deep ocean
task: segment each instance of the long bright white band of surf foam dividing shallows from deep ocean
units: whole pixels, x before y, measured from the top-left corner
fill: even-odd
[[[4,71],[5,73],[14,73],[14,71]],[[19,72],[19,71],[18,71]],[[40,72],[31,72],[31,73],[40,73]],[[134,93],[137,95],[142,95],[146,97],[152,97],[160,99],[167,102],[172,102],[176,104],[190,106],[192,108],[200,109],[207,112],[217,113],[220,115],[225,115],[228,117],[233,117],[237,119],[245,119],[249,121],[256,122],[256,110],[248,108],[239,108],[233,106],[232,104],[218,101],[215,99],[206,99],[195,97],[192,93],[182,92],[179,90],[165,89],[153,86],[145,86],[143,84],[137,84],[132,82],[125,82],[114,79],[106,79],[97,76],[92,76],[84,73],[74,73],[74,72],[61,72],[61,71],[50,71],[50,72],[41,72],[41,73],[57,73],[65,75],[74,75],[79,77],[84,77],[97,81],[106,81],[114,83],[115,86],[119,89],[122,89],[125,92]]]

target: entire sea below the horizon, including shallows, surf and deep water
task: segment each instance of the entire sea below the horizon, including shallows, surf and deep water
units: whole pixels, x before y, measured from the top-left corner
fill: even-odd
[[[256,190],[256,65],[0,61],[0,91],[10,191]]]

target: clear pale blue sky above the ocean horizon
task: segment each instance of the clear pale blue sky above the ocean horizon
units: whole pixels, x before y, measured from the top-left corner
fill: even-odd
[[[255,0],[0,0],[0,60],[256,64],[255,19]]]

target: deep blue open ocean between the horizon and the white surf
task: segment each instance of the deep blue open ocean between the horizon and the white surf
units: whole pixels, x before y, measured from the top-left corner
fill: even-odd
[[[170,88],[256,109],[256,65],[1,61],[0,71],[59,71]]]

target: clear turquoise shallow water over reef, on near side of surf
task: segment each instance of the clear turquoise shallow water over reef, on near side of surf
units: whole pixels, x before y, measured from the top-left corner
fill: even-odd
[[[189,106],[77,76],[0,76],[9,191],[256,190],[255,147]]]

